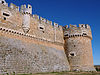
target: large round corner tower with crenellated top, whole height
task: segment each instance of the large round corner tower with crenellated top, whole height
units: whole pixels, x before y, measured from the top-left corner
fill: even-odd
[[[80,24],[64,29],[65,51],[71,71],[96,71],[92,56],[90,26]]]

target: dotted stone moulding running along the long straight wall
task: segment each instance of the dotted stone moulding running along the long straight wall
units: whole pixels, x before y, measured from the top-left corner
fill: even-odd
[[[13,33],[13,34],[21,35],[21,36],[26,36],[26,37],[29,37],[29,38],[34,38],[35,40],[46,41],[46,42],[54,43],[54,44],[61,45],[61,46],[64,45],[63,43],[60,43],[60,42],[54,42],[54,41],[51,41],[49,39],[47,40],[45,38],[39,38],[39,37],[37,38],[35,35],[25,34],[24,32],[19,32],[17,30],[8,29],[8,28],[5,28],[5,27],[0,27],[0,31]]]

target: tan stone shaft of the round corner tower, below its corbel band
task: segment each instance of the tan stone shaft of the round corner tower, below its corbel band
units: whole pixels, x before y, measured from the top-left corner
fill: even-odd
[[[86,37],[71,37],[66,39],[66,54],[71,70],[94,71],[91,39]]]

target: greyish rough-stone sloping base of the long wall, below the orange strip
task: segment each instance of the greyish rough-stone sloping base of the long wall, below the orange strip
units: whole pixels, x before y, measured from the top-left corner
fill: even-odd
[[[69,71],[63,50],[0,36],[0,70],[17,73]]]

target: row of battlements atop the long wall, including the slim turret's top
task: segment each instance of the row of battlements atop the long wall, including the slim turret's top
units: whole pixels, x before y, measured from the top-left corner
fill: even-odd
[[[6,3],[5,0],[0,0],[0,3],[2,3],[3,5],[8,6],[8,5],[7,5],[8,3]],[[29,4],[28,4],[28,6],[27,6],[27,5],[21,5],[21,8],[20,8],[19,6],[16,6],[15,4],[11,3],[11,4],[10,4],[10,7],[8,7],[8,8],[11,8],[12,10],[15,10],[14,12],[20,11],[20,14],[30,14],[30,15],[32,15],[32,6],[29,5]],[[19,10],[19,9],[20,9],[20,10]],[[10,11],[11,11],[11,10],[10,10]],[[12,11],[11,11],[11,12],[12,12]],[[47,19],[45,19],[45,18],[43,18],[43,17],[41,17],[41,16],[39,16],[39,15],[36,15],[36,14],[34,14],[34,15],[31,16],[31,17],[33,17],[35,20],[38,20],[38,22],[40,22],[41,24],[52,25],[53,28],[58,28],[58,30],[59,30],[59,25],[58,25],[58,23],[49,21],[49,20],[47,20]],[[60,28],[61,28],[61,26],[60,26]]]

